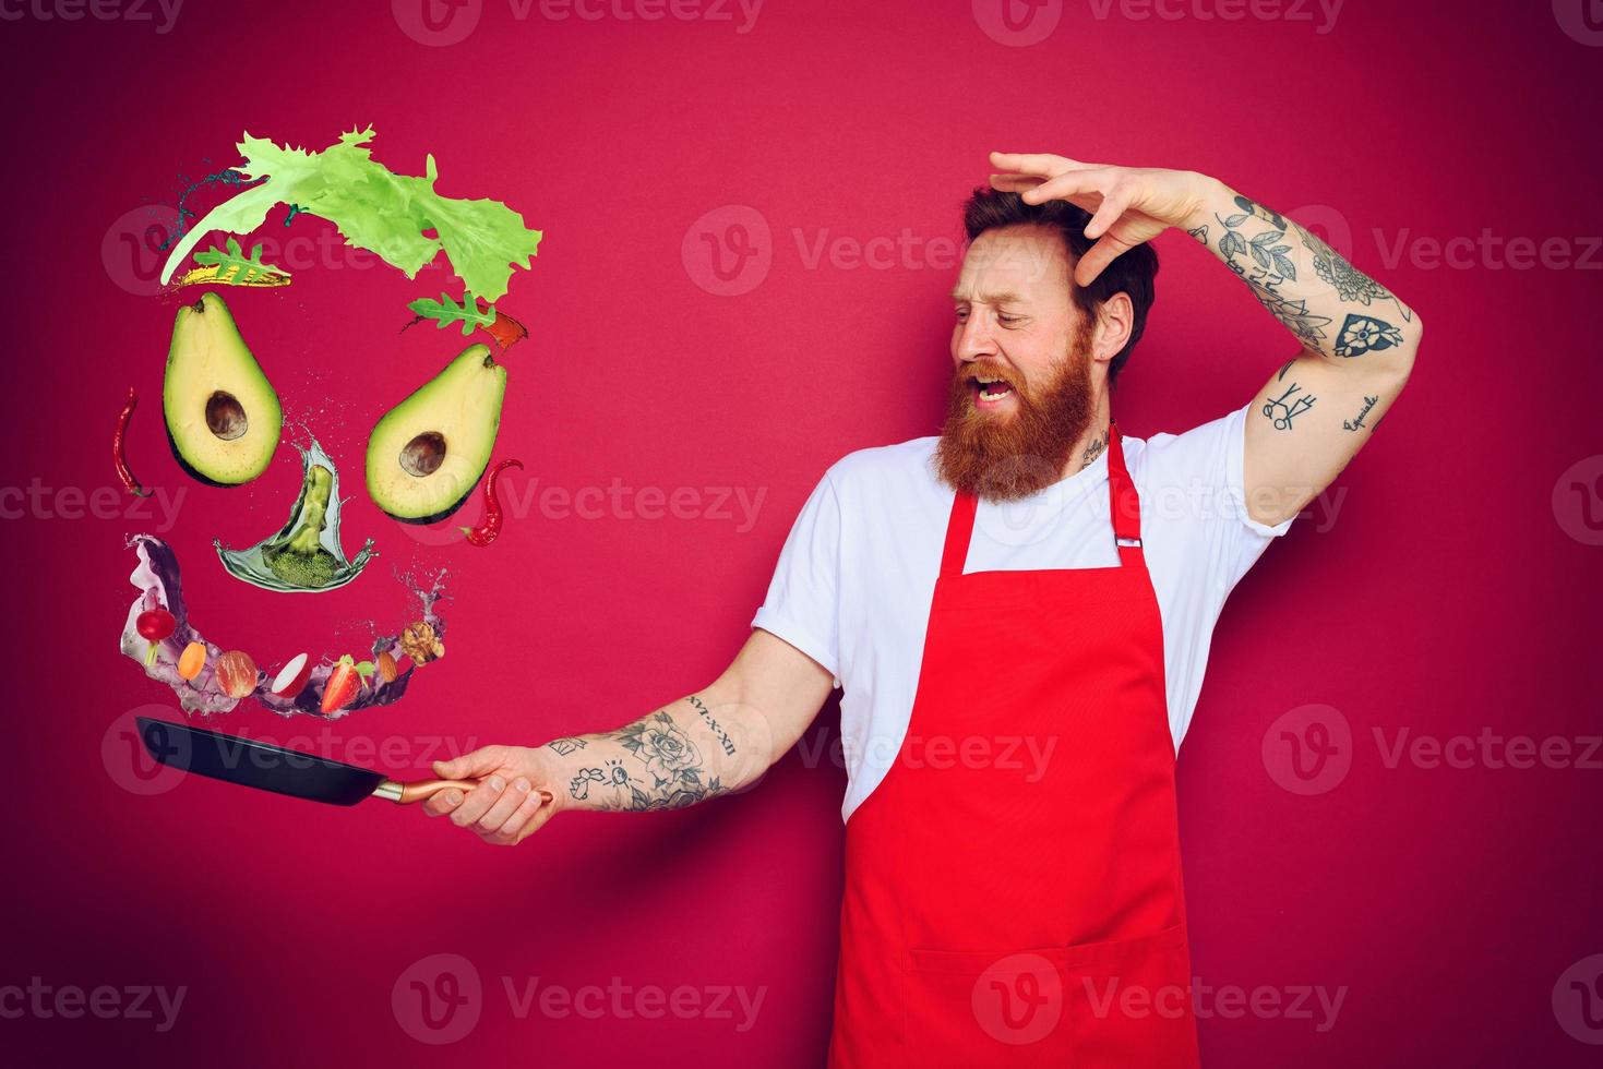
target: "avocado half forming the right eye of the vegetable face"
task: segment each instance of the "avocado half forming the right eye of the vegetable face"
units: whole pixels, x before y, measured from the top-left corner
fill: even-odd
[[[489,466],[507,369],[473,345],[390,409],[367,439],[367,494],[390,516],[431,524],[457,511]]]

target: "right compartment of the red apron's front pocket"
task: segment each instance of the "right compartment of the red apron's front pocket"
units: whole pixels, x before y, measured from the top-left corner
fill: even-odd
[[[1063,1029],[1076,1069],[1197,1064],[1186,926],[1068,947]]]

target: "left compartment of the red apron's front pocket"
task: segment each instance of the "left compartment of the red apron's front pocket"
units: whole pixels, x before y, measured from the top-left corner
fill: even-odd
[[[1066,947],[911,949],[902,973],[906,1066],[1064,1066]]]

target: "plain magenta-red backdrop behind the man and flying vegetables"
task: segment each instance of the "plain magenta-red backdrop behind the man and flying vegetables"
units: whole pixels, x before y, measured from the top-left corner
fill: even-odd
[[[830,462],[936,428],[957,205],[1008,149],[1217,175],[1430,324],[1385,431],[1215,633],[1181,761],[1209,1064],[1597,1064],[1595,3],[1047,0],[1008,24],[986,0],[769,0],[755,21],[713,0],[580,5],[596,18],[471,0],[430,19],[425,2],[6,6],[0,530],[26,572],[5,1050],[821,1064],[834,702],[750,793],[571,816],[516,849],[388,805],[172,781],[130,750],[133,712],[176,710],[115,652],[122,540],[168,537],[200,628],[264,664],[357,647],[367,620],[409,619],[396,569],[450,569],[450,652],[402,704],[321,732],[247,705],[228,731],[404,776],[436,747],[633,720],[728,662]],[[1231,11],[1246,18],[1205,18]],[[154,295],[146,231],[184,178],[237,162],[242,130],[321,147],[369,122],[380,160],[417,173],[433,152],[442,192],[505,199],[545,231],[503,301],[532,332],[507,357],[497,447],[527,465],[507,482],[523,505],[489,550],[372,506],[372,422],[462,345],[399,335],[401,305],[449,274],[407,282],[274,213],[261,236],[293,285],[228,300],[289,415],[343,465],[346,542],[382,553],[337,593],[274,596],[224,575],[210,540],[282,522],[295,454],[236,490],[178,470],[159,404],[175,300]],[[1207,252],[1173,232],[1159,248],[1119,397],[1141,436],[1239,407],[1294,349]],[[103,494],[83,514],[115,486],[130,385],[131,465],[183,497],[136,513]],[[588,518],[539,497],[614,484],[620,503]],[[681,490],[680,514],[640,514],[641,489]],[[1326,764],[1294,766],[1287,736],[1321,732]],[[83,1013],[74,998],[101,986],[119,1008],[101,994]],[[135,1005],[138,986],[184,989],[170,1027],[139,1015],[157,1003]]]

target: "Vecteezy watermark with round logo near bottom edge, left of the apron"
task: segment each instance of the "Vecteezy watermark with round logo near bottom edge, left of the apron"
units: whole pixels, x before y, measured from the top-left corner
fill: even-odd
[[[662,1018],[728,1021],[749,1032],[768,997],[768,986],[744,984],[632,984],[612,976],[603,984],[553,984],[540,976],[502,976],[507,1010],[518,1021],[587,1021]],[[401,1031],[420,1043],[444,1045],[465,1039],[487,1010],[484,984],[473,962],[460,954],[431,954],[409,965],[390,992],[390,1008]]]

